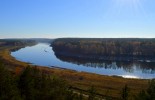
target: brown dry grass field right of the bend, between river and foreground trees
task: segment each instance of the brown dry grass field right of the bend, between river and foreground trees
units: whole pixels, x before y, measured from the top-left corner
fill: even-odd
[[[46,68],[44,68],[45,70]],[[124,79],[104,75],[90,74],[85,72],[75,72],[60,69],[49,69],[52,73],[66,79],[74,87],[88,90],[92,85],[97,92],[102,95],[119,97],[122,87],[127,84],[131,88],[131,95],[137,94],[140,90],[146,89],[148,80]],[[107,93],[108,91],[108,93]]]

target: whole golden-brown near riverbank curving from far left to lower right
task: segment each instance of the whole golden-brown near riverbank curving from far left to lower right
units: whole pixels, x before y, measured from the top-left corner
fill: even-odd
[[[10,50],[17,47],[7,47],[0,51],[0,58],[7,64],[16,74],[20,73],[28,63],[17,61],[10,55]],[[33,66],[32,66],[33,67]],[[37,66],[40,70],[49,74],[57,75],[72,86],[75,91],[86,92],[91,86],[94,86],[100,96],[110,96],[113,98],[120,97],[120,91],[125,84],[131,88],[130,95],[137,94],[140,90],[146,89],[148,80],[144,79],[125,79],[116,76],[105,76],[86,72],[77,72],[61,68],[49,68],[45,66]]]

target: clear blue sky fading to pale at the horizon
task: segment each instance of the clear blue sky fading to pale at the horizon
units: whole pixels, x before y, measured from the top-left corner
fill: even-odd
[[[155,38],[155,0],[0,0],[0,38]]]

